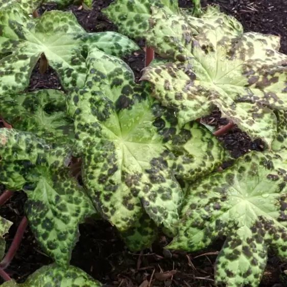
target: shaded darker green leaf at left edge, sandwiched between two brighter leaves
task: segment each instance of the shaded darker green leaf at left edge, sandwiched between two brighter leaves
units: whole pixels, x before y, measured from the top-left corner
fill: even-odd
[[[33,132],[46,142],[73,143],[74,125],[66,111],[66,95],[43,89],[0,97],[0,114],[14,129]]]

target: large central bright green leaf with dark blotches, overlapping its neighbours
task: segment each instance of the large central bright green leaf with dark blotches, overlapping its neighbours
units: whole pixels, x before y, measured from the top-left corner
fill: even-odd
[[[87,65],[86,86],[69,95],[68,111],[90,198],[120,231],[145,212],[174,230],[183,199],[175,176],[208,174],[223,161],[222,146],[197,123],[179,128],[174,111],[151,97],[147,83],[135,84],[122,60],[94,52]]]

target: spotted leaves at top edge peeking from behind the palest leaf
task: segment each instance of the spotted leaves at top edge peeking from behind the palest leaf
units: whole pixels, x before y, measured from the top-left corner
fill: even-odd
[[[194,8],[180,8],[177,0],[115,0],[107,8],[102,9],[110,21],[117,25],[119,31],[130,38],[143,38],[149,29],[149,20],[152,16],[152,7],[164,9],[171,14],[186,17],[193,35],[198,35],[200,27],[209,23],[210,28],[218,25],[218,17],[230,22],[238,32],[242,32],[241,23],[232,16],[220,13],[219,9],[207,6],[202,9],[200,0],[193,0]],[[198,18],[200,17],[200,19]]]

